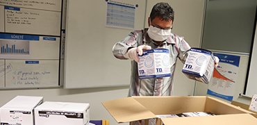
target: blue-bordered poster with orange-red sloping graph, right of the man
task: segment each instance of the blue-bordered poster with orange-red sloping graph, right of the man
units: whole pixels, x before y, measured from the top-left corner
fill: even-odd
[[[240,56],[213,53],[219,58],[219,65],[213,71],[213,80],[208,84],[207,94],[229,101],[233,100]]]

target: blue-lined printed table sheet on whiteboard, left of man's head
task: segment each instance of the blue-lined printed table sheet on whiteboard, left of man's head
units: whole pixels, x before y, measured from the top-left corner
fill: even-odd
[[[138,5],[106,0],[106,26],[133,29]]]

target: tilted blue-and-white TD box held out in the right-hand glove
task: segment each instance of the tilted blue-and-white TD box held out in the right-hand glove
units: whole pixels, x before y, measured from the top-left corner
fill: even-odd
[[[206,49],[191,48],[182,72],[188,78],[208,84],[213,75],[214,56]]]

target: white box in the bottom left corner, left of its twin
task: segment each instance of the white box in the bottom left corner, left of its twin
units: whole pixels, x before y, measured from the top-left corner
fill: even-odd
[[[17,96],[0,108],[2,124],[33,125],[35,107],[43,102],[43,97]]]

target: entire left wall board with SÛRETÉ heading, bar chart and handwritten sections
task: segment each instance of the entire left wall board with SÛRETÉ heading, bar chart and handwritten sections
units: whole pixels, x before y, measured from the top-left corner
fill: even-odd
[[[0,0],[0,89],[59,86],[62,0]]]

